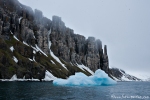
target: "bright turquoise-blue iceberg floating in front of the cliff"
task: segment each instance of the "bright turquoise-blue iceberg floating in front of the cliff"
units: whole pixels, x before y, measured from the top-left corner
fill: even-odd
[[[117,82],[111,79],[104,71],[98,69],[94,75],[86,76],[79,72],[70,76],[68,79],[56,79],[53,81],[54,85],[65,86],[107,86],[114,85]]]

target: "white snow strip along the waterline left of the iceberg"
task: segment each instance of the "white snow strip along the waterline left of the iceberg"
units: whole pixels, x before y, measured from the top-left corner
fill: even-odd
[[[56,80],[57,77],[55,77],[53,74],[51,74],[48,70],[45,71],[45,78],[42,79],[41,81],[53,81]],[[0,81],[37,81],[39,82],[40,79],[25,79],[25,77],[21,78],[17,78],[17,75],[13,75],[11,79],[0,79]]]

